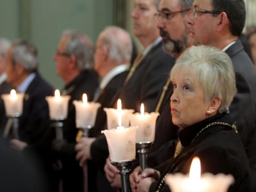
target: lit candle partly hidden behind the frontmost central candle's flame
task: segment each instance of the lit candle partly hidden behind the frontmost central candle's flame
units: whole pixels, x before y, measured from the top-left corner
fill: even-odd
[[[128,114],[132,114],[134,112],[133,109],[122,109],[121,100],[117,101],[117,109],[113,108],[104,108],[103,109],[107,114],[107,126],[108,130],[116,128],[118,125],[118,114],[121,115],[123,120],[122,125],[128,127],[130,125],[130,121],[128,118]]]

